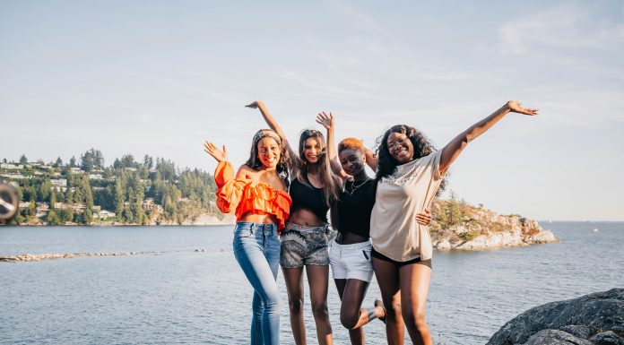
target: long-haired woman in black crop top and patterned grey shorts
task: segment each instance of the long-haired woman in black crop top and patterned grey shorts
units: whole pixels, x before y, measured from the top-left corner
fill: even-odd
[[[293,160],[290,183],[290,217],[282,231],[280,264],[290,309],[290,327],[296,344],[306,343],[303,319],[303,267],[306,267],[312,314],[318,343],[333,344],[334,335],[327,311],[329,252],[327,211],[338,199],[341,181],[334,175],[325,154],[325,139],[316,130],[305,130],[299,137],[299,155],[294,154],[282,128],[262,101],[248,105],[259,108],[266,123],[282,137]],[[317,119],[318,122],[318,119]],[[329,142],[333,144],[333,142]]]

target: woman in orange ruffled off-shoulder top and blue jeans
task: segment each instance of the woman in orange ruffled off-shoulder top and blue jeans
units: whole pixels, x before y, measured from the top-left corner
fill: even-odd
[[[254,135],[249,160],[234,168],[225,146],[205,142],[204,151],[219,162],[214,172],[217,206],[235,211],[234,256],[254,288],[252,344],[279,344],[281,298],[277,289],[280,232],[290,214],[288,190],[290,155],[282,138],[270,129]]]

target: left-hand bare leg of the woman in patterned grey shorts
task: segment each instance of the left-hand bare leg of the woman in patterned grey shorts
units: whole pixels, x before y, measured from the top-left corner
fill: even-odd
[[[303,267],[282,267],[282,273],[288,291],[292,336],[295,338],[295,344],[306,345],[306,326],[303,323]]]

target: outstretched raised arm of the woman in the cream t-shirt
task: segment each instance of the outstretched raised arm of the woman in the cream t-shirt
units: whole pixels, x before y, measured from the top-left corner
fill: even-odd
[[[448,167],[459,157],[459,154],[464,151],[464,148],[468,142],[472,142],[476,137],[484,134],[490,127],[498,122],[503,116],[508,113],[518,113],[525,115],[537,115],[537,109],[522,108],[522,103],[516,100],[510,100],[503,107],[492,113],[490,116],[482,119],[470,128],[466,129],[464,133],[455,136],[451,142],[448,142],[444,149],[442,149],[442,157],[440,158],[439,172],[444,174]]]

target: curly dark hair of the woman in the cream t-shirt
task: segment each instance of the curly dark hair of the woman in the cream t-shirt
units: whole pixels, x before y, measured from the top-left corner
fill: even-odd
[[[416,128],[409,125],[393,125],[386,131],[386,133],[377,138],[377,175],[375,181],[379,182],[383,177],[388,177],[394,172],[398,162],[394,160],[390,151],[388,150],[388,136],[393,133],[405,134],[410,139],[412,146],[414,147],[414,155],[412,159],[418,160],[421,157],[425,157],[431,154],[436,149],[433,147],[429,138],[422,134]],[[438,189],[438,194],[444,190],[446,186],[446,178],[442,181],[442,185]]]

